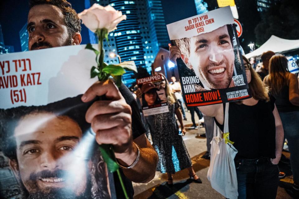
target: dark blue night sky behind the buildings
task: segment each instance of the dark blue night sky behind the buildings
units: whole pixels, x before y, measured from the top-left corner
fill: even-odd
[[[84,0],[69,0],[77,12],[84,9]],[[162,0],[166,24],[196,15],[194,0]],[[0,24],[5,45],[21,51],[19,31],[27,21],[29,11],[27,0],[0,0]],[[88,30],[82,25],[82,44],[88,43]]]

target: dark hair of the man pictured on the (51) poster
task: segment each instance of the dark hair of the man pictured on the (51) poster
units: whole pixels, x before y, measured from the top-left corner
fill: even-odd
[[[81,96],[66,98],[43,106],[19,106],[0,109],[0,149],[11,160],[17,160],[17,146],[14,131],[19,121],[31,113],[53,113],[57,117],[67,116],[78,123],[84,134],[90,128],[85,121],[85,113],[91,103],[83,103]]]

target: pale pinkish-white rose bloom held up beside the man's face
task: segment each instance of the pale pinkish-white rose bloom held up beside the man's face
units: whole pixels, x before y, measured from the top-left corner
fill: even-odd
[[[121,11],[115,10],[112,6],[106,7],[93,4],[92,7],[85,9],[78,14],[82,23],[91,31],[105,28],[108,32],[116,29],[116,25],[122,20],[126,20],[127,16],[122,15]]]

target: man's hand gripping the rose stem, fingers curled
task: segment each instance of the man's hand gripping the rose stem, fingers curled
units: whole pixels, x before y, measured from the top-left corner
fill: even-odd
[[[124,166],[131,165],[137,157],[137,148],[132,142],[131,107],[111,80],[93,84],[82,101],[102,95],[110,100],[94,102],[86,112],[86,121],[91,123],[98,144],[112,144],[116,158],[122,160]]]

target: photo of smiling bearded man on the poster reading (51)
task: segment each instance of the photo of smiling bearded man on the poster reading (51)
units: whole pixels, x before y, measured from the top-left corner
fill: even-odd
[[[110,198],[106,164],[81,96],[44,106],[0,109],[0,146],[21,198]]]

